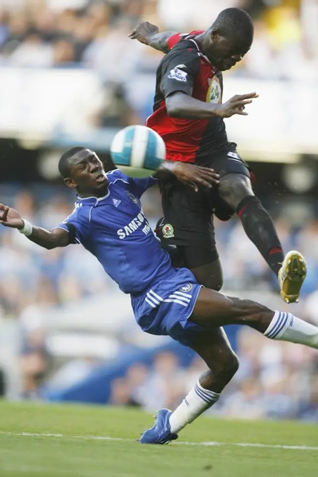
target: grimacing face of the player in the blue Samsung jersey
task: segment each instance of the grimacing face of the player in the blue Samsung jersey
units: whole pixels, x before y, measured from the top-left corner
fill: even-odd
[[[65,179],[69,187],[92,195],[107,188],[104,166],[96,153],[84,149],[75,154],[70,162],[70,178]]]

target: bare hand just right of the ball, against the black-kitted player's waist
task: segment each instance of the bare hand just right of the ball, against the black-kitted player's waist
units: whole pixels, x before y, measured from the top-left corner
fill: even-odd
[[[176,162],[173,173],[178,180],[188,184],[196,192],[199,185],[210,189],[213,185],[217,185],[220,182],[219,174],[214,172],[213,169],[185,162]]]

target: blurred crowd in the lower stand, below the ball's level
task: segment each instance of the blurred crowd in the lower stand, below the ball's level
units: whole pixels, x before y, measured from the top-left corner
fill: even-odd
[[[12,189],[10,189],[11,192]],[[52,195],[51,195],[52,194]],[[61,223],[72,211],[71,197],[59,189],[39,186],[17,191],[8,202],[24,217],[45,228]],[[160,214],[159,192],[149,192],[144,208],[153,227]],[[277,228],[286,250],[304,250],[310,273],[301,305],[295,313],[318,323],[318,222],[291,230],[281,218]],[[52,356],[47,347],[46,313],[54,307],[80,303],[87,297],[112,294],[121,300],[103,269],[80,245],[46,251],[25,237],[0,230],[0,313],[2,318],[18,318],[21,331],[21,395],[39,398],[46,376],[51,375]],[[251,242],[244,238],[239,222],[217,222],[217,242],[224,268],[225,290],[275,290],[274,280]],[[272,286],[270,284],[273,284]],[[283,303],[281,302],[283,307]],[[107,319],[101,316],[101,320]],[[110,318],[111,319],[111,314]],[[133,321],[133,317],[130,319]],[[147,341],[146,336],[145,340]],[[318,420],[317,352],[289,343],[271,343],[253,330],[240,329],[236,336],[240,369],[213,413],[240,417],[297,417]],[[81,356],[68,363],[50,379],[58,384],[76,383],[87,376],[100,359]],[[159,354],[152,367],[133,365],[125,377],[115,379],[110,401],[117,405],[140,405],[147,410],[174,406],[195,381],[204,364],[195,359],[189,369],[178,366],[178,357]]]

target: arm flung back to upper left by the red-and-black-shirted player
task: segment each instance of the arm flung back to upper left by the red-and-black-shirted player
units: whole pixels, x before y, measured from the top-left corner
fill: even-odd
[[[174,31],[159,32],[158,26],[149,21],[142,21],[129,35],[132,40],[151,46],[155,50],[167,53],[169,51],[168,39],[174,35]]]

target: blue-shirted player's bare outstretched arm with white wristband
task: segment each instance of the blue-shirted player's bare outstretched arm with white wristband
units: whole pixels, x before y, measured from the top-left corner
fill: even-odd
[[[69,243],[69,233],[66,230],[53,229],[49,231],[41,227],[33,227],[28,221],[22,219],[16,210],[3,204],[0,204],[0,224],[4,227],[17,229],[29,240],[48,250],[65,247]]]

